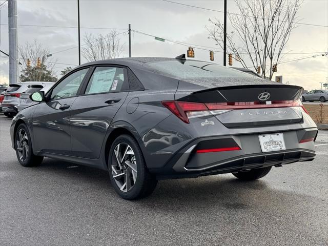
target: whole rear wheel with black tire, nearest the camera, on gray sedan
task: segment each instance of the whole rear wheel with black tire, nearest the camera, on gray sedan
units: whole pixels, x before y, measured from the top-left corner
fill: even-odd
[[[149,196],[157,185],[137,141],[129,135],[114,140],[109,152],[108,172],[115,191],[127,200]]]

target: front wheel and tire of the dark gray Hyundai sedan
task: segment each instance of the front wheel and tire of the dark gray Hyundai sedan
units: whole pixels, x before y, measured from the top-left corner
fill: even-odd
[[[17,127],[14,144],[20,165],[23,167],[35,167],[41,164],[43,156],[33,154],[30,133],[25,124],[20,124]]]

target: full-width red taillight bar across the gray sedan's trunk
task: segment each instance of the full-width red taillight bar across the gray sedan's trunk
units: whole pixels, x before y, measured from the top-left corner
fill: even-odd
[[[207,115],[217,115],[236,109],[261,109],[261,108],[284,108],[301,107],[309,114],[300,100],[280,100],[280,101],[247,101],[236,103],[192,103],[188,101],[162,101],[162,105],[167,107],[172,113],[178,116],[183,122],[189,123],[189,119],[203,117]]]

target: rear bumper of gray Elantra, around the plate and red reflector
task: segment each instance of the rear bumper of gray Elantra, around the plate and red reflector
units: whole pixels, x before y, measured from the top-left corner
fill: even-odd
[[[259,134],[198,138],[179,150],[165,167],[150,171],[155,173],[158,179],[168,179],[231,173],[297,161],[310,161],[316,155],[314,142],[300,143],[300,140],[316,134],[316,128],[283,132],[286,150],[265,153],[260,148]],[[240,150],[196,153],[197,146],[204,142],[216,142],[217,145],[222,142],[235,142]]]

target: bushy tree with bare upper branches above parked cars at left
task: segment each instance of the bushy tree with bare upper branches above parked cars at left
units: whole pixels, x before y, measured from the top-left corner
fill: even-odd
[[[33,43],[26,42],[23,46],[19,46],[18,51],[23,63],[21,79],[22,77],[25,77],[27,80],[32,79],[33,81],[40,81],[45,77],[48,80],[50,79],[49,81],[55,79],[54,66],[56,61],[47,56],[50,53],[48,48],[44,48],[35,39]],[[41,61],[39,68],[37,68],[38,58]],[[28,66],[28,61],[30,62],[30,67]]]

